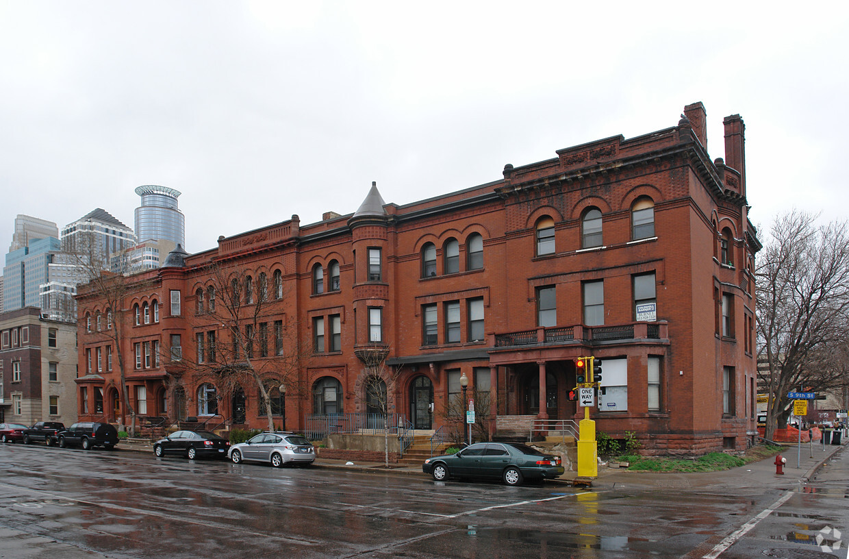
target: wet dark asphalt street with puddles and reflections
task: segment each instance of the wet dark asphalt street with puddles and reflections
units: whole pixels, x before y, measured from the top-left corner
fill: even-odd
[[[842,460],[818,492],[790,483],[587,491],[0,445],[0,558],[702,557],[780,499],[717,556],[822,553],[780,538],[801,522],[810,529],[796,533],[812,536],[849,527]],[[799,556],[843,559],[846,548]]]

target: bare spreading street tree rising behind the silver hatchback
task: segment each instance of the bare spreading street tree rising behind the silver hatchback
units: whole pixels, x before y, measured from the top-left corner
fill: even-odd
[[[287,321],[283,279],[219,263],[208,272],[211,282],[195,294],[196,323],[207,330],[197,332],[197,354],[186,359],[187,366],[225,394],[255,385],[273,431],[273,416],[281,410],[272,393],[295,394],[299,401],[306,394],[299,376],[306,355]]]

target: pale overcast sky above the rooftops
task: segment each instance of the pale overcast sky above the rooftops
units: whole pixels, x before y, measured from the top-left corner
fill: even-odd
[[[573,5],[574,4],[574,5]],[[593,4],[586,6],[586,4]],[[686,4],[686,5],[685,5]],[[845,2],[0,0],[0,249],[25,213],[180,190],[190,252],[289,219],[406,204],[554,151],[746,124],[751,220],[845,219]]]

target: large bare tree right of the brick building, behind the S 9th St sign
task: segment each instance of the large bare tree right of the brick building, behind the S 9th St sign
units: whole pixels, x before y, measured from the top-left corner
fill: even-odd
[[[849,236],[846,222],[817,226],[818,216],[777,217],[756,270],[759,381],[769,394],[766,437],[786,421],[791,391],[844,382],[834,366],[846,346]]]

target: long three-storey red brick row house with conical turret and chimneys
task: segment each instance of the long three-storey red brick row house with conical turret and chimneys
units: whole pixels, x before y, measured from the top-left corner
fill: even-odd
[[[711,161],[691,104],[676,127],[507,165],[492,183],[406,206],[373,184],[353,214],[292,216],[116,278],[132,409],[267,426],[250,365],[276,426],[380,410],[382,390],[393,421],[430,430],[465,376],[495,434],[582,417],[568,393],[575,360],[594,355],[599,431],[634,432],[652,452],[745,448],[760,243],[743,121],[724,129],[725,160]],[[81,419],[126,424],[117,350],[98,332],[118,313],[80,293]]]

